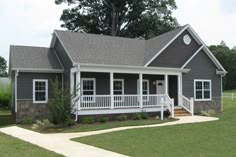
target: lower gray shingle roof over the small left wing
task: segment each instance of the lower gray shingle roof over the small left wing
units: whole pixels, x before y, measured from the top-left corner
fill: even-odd
[[[54,49],[29,46],[10,47],[10,68],[63,69]]]

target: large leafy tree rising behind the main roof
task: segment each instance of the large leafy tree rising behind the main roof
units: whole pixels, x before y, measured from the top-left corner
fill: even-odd
[[[55,0],[64,9],[61,25],[71,31],[148,39],[178,26],[175,0]]]

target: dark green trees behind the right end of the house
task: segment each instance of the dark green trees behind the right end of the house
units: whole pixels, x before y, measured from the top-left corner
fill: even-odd
[[[211,45],[209,49],[228,72],[223,77],[223,89],[236,89],[236,50],[230,49],[225,42],[221,42],[220,45]]]

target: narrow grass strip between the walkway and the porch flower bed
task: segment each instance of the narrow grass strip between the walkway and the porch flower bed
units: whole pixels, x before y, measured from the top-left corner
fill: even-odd
[[[70,133],[70,132],[96,131],[96,130],[111,129],[124,126],[151,125],[151,124],[165,123],[169,121],[174,121],[174,119],[165,119],[164,121],[157,119],[147,119],[147,120],[113,121],[113,122],[95,123],[95,124],[77,124],[70,128],[58,128],[50,125],[47,127],[42,126],[34,130],[31,129],[32,125],[19,125],[19,126],[41,133],[58,133],[58,132]]]

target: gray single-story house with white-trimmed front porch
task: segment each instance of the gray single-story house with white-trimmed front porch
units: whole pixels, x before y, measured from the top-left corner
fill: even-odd
[[[9,64],[16,120],[47,115],[54,79],[81,86],[77,118],[222,107],[226,71],[190,25],[149,40],[55,30],[49,48],[11,46]]]

